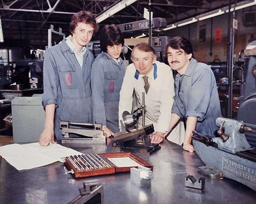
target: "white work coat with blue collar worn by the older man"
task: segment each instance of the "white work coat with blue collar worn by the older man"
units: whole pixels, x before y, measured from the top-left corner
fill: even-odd
[[[171,121],[171,107],[174,97],[174,80],[171,67],[165,63],[156,61],[155,69],[148,75],[150,88],[148,94],[145,93],[145,125],[153,124],[155,131],[166,133]],[[155,77],[154,77],[155,72]],[[133,90],[135,90],[138,105],[142,104],[142,93],[144,90],[144,75],[135,77],[136,69],[134,64],[127,67],[119,101],[119,120],[126,110],[132,112]],[[138,74],[138,72],[137,72]],[[157,77],[156,77],[157,75]],[[137,79],[136,79],[137,78]],[[139,119],[139,127],[142,121]]]

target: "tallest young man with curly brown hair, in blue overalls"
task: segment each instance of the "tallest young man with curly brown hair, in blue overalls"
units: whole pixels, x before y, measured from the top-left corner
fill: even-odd
[[[85,46],[98,29],[87,11],[71,18],[71,38],[48,48],[44,55],[45,128],[41,146],[62,140],[60,121],[92,123],[90,72],[93,54]]]

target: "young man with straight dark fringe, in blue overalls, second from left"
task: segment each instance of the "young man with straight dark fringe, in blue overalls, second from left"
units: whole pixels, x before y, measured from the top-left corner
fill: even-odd
[[[105,25],[100,36],[102,52],[91,67],[93,122],[101,123],[108,137],[119,132],[119,92],[126,69],[120,57],[123,45],[120,29],[114,24]]]

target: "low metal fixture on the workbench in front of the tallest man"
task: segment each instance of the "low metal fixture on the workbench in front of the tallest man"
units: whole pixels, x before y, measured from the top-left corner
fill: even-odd
[[[62,143],[106,143],[107,137],[102,131],[102,124],[61,121],[60,126],[64,135]]]

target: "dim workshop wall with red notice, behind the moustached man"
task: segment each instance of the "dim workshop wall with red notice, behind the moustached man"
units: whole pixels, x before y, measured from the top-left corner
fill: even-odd
[[[252,6],[250,9],[256,10],[256,7]],[[235,61],[238,61],[239,52],[246,49],[249,42],[256,40],[256,26],[245,27],[243,25],[242,11],[236,11],[238,29],[235,30]],[[232,15],[230,17],[231,22]],[[229,13],[226,13],[212,19],[209,18],[171,29],[165,35],[171,37],[184,36],[189,39],[194,49],[195,58],[198,61],[212,62],[218,58],[220,61],[227,61],[228,20]]]

